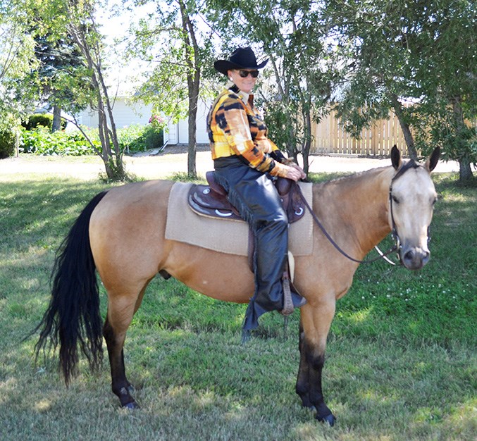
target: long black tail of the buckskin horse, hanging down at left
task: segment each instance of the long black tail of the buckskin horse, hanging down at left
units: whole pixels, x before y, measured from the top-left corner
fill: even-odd
[[[83,354],[94,370],[103,358],[99,291],[91,247],[89,220],[106,192],[97,194],[85,206],[58,248],[51,273],[51,300],[41,323],[39,352],[60,344],[60,366],[65,382],[77,373],[78,340]]]

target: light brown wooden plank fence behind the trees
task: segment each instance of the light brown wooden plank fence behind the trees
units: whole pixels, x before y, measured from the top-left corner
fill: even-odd
[[[345,131],[340,120],[331,111],[320,123],[311,128],[313,140],[311,154],[353,154],[361,156],[389,156],[393,145],[407,156],[407,146],[399,120],[390,113],[388,120],[379,120],[361,132],[361,139],[354,139]]]

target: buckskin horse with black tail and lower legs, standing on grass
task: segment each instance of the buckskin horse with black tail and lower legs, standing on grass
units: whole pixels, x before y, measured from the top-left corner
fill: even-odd
[[[430,172],[438,158],[436,148],[424,163],[403,161],[394,147],[390,166],[312,186],[313,216],[321,228],[314,224],[312,253],[295,258],[295,287],[307,301],[300,310],[295,390],[318,421],[335,423],[322,392],[326,338],[336,301],[351,287],[361,259],[392,231],[404,267],[418,270],[428,262],[428,227],[437,199]],[[152,278],[173,277],[225,302],[247,303],[254,292],[247,256],[166,240],[173,185],[129,183],[97,194],[85,206],[56,254],[51,299],[37,327],[37,356],[59,344],[67,385],[78,374],[78,347],[90,368],[98,368],[104,337],[112,391],[129,409],[138,404],[125,375],[123,344]],[[108,295],[104,325],[96,271]]]

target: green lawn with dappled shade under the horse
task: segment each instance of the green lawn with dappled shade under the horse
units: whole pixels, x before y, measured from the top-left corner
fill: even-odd
[[[297,313],[286,335],[266,314],[242,346],[244,305],[159,277],[125,346],[142,409],[119,409],[107,362],[91,374],[82,361],[66,388],[56,357],[35,364],[35,338],[23,338],[47,306],[56,248],[104,184],[0,177],[1,440],[475,439],[477,192],[455,179],[435,175],[428,266],[361,265],[337,303],[323,371],[338,418],[329,428],[295,395]]]

